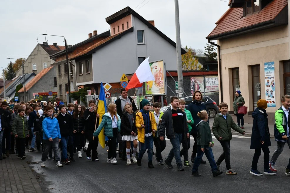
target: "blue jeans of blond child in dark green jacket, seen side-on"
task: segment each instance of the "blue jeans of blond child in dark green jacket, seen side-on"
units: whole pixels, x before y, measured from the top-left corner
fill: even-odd
[[[192,167],[192,172],[197,172],[198,171],[198,167],[200,164],[200,161],[202,159],[202,156],[205,154],[207,160],[209,160],[209,164],[211,165],[211,172],[215,172],[217,171],[217,166],[216,166],[216,162],[214,161],[214,154],[212,153],[212,149],[211,147],[207,146],[204,148],[204,152],[202,152],[200,150],[201,146],[198,145],[197,146],[197,155]]]

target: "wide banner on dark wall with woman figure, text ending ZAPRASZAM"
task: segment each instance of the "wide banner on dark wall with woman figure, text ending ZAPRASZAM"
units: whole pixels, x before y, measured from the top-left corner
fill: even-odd
[[[205,94],[206,95],[216,95],[219,94],[219,78],[218,76],[206,76],[206,87]],[[202,94],[204,93],[204,77],[191,77],[190,79],[190,89],[191,94],[193,94],[196,90],[199,90]]]

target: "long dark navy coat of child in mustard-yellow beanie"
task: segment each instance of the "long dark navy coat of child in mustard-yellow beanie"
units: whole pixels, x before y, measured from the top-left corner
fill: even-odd
[[[267,116],[268,115],[266,113],[266,110],[259,107],[257,107],[252,113],[253,128],[252,128],[250,149],[271,146]],[[261,141],[264,141],[263,145]]]

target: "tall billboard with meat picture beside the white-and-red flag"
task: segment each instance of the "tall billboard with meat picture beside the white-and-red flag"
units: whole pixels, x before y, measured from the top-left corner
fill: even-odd
[[[145,82],[146,95],[165,94],[163,61],[149,63],[155,80]]]

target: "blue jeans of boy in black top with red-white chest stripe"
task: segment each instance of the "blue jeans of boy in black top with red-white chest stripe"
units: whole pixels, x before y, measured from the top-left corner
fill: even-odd
[[[180,143],[182,141],[182,133],[174,132],[174,136],[175,138],[170,139],[170,142],[172,144],[172,149],[170,150],[167,156],[167,160],[171,162],[173,160],[173,157],[175,157],[176,164],[178,165],[178,164],[181,164]]]

